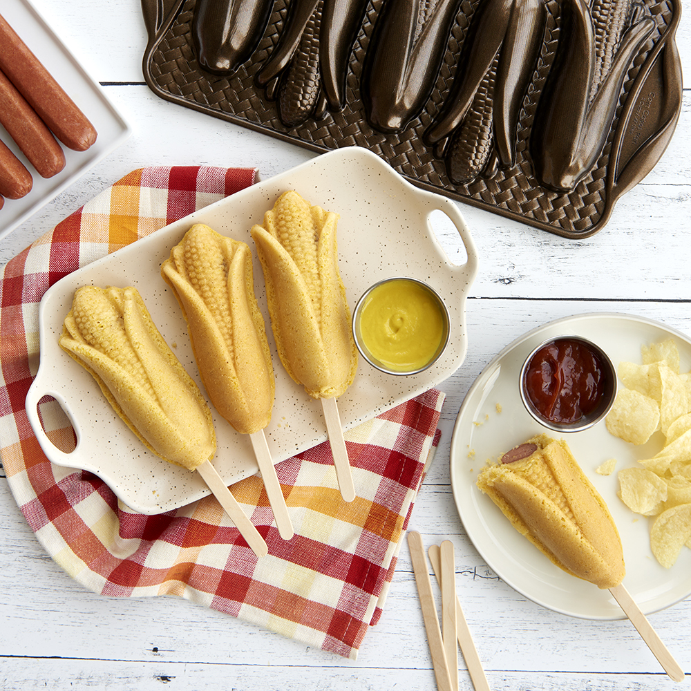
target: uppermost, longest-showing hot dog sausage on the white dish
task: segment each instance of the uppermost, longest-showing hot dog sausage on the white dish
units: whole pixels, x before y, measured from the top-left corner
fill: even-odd
[[[0,69],[68,149],[86,151],[96,130],[0,15]]]

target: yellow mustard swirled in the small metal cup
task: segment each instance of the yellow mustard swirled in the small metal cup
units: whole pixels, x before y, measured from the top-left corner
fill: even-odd
[[[424,368],[442,344],[442,307],[415,281],[387,281],[366,297],[359,330],[362,343],[385,368],[413,372]]]

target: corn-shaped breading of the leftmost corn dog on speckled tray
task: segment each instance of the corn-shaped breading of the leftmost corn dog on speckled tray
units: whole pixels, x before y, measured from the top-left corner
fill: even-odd
[[[79,288],[59,343],[150,451],[189,470],[214,457],[211,410],[135,288]]]

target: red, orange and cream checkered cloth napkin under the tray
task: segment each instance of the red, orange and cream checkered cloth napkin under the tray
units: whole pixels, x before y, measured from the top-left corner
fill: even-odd
[[[38,303],[58,278],[247,187],[252,169],[130,173],[0,269],[0,459],[50,556],[108,596],[179,595],[345,657],[377,623],[413,502],[438,439],[444,395],[430,390],[350,430],[357,497],[336,489],[328,443],[276,465],[295,536],[283,540],[261,477],[233,493],[265,537],[258,560],[213,496],[162,515],[133,513],[100,478],[51,464],[24,410],[39,361]],[[46,431],[73,439],[57,404]]]

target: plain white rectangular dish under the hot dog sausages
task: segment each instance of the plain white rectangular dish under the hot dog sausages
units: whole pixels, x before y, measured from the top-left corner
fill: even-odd
[[[28,0],[4,0],[0,13],[48,68],[57,83],[82,109],[97,131],[95,144],[87,151],[70,151],[65,146],[66,164],[53,178],[41,178],[15,142],[0,126],[0,139],[27,167],[34,180],[31,191],[21,199],[6,199],[0,209],[0,240],[35,214],[97,162],[120,146],[131,129],[115,106],[106,98],[98,82],[92,79]]]

